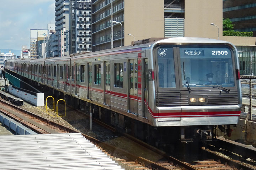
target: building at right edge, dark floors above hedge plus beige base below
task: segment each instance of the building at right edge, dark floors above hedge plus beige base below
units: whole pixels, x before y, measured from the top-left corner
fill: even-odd
[[[255,0],[223,0],[223,18],[229,18],[234,30],[253,32],[254,37],[228,37],[239,56],[240,74],[256,75],[256,2]],[[250,67],[252,66],[252,69]]]

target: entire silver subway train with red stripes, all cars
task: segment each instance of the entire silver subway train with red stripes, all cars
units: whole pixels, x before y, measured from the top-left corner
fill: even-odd
[[[241,113],[238,53],[227,41],[150,38],[97,52],[8,60],[5,70],[158,145],[211,140],[217,125],[237,124]]]

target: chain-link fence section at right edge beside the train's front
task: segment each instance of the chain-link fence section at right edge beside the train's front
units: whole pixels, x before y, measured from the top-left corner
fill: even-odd
[[[256,121],[256,76],[241,75],[242,109],[240,118]]]

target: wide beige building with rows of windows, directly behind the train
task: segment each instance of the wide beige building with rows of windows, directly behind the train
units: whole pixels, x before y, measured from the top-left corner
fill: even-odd
[[[114,0],[113,47],[150,37],[196,36],[218,39],[222,0]],[[134,38],[128,34],[134,36]],[[220,35],[220,38],[222,35]],[[92,0],[92,51],[111,48],[111,0]]]

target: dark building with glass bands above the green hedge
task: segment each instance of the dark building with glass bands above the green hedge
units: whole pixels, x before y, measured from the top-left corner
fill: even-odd
[[[223,18],[229,18],[235,24],[235,31],[252,31],[256,36],[255,0],[223,0]]]

